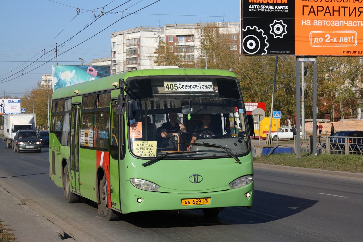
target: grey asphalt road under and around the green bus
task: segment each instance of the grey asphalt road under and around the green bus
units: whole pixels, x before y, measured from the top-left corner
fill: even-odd
[[[362,179],[255,168],[253,209],[226,208],[217,218],[181,210],[106,221],[93,202],[66,203],[49,179],[48,155],[47,148],[17,154],[0,141],[0,185],[76,241],[363,241]]]

